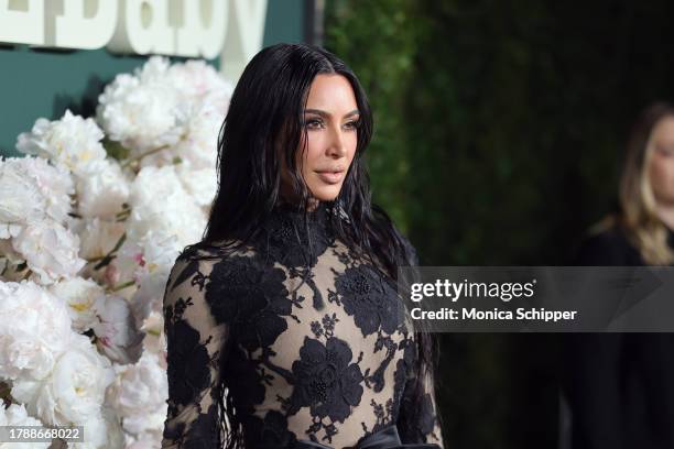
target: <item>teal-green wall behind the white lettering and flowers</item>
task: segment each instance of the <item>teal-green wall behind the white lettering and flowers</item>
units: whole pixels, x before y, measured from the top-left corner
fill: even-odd
[[[269,0],[263,45],[300,42],[304,1]],[[18,156],[17,135],[40,117],[56,119],[66,109],[94,114],[96,99],[115,75],[132,72],[143,56],[117,56],[105,50],[45,51],[0,46],[0,155]],[[213,64],[219,66],[219,59]]]

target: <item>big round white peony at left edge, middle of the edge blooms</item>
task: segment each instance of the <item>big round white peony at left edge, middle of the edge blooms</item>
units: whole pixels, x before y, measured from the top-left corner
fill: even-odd
[[[66,307],[43,287],[0,283],[0,379],[42,380],[70,343]]]

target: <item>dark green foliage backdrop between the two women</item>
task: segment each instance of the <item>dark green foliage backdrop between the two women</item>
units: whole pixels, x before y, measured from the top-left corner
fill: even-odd
[[[616,204],[629,128],[674,98],[665,0],[333,0],[374,111],[374,199],[425,265],[563,265]],[[551,336],[443,336],[448,447],[554,447]],[[533,415],[533,416],[532,416]]]

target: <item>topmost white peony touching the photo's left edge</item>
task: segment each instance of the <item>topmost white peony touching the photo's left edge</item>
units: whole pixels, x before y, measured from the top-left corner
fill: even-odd
[[[74,194],[70,173],[37,157],[0,161],[0,239],[47,217],[64,223]]]

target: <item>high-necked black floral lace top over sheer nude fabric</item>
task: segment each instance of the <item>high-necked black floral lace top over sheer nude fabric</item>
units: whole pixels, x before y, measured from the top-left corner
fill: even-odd
[[[307,234],[284,206],[258,244],[178,256],[164,297],[162,447],[216,448],[218,401],[236,410],[246,448],[352,447],[391,425],[403,443],[442,445],[433,380],[423,406],[405,409],[416,346],[395,284],[335,239],[335,210],[320,202]]]

